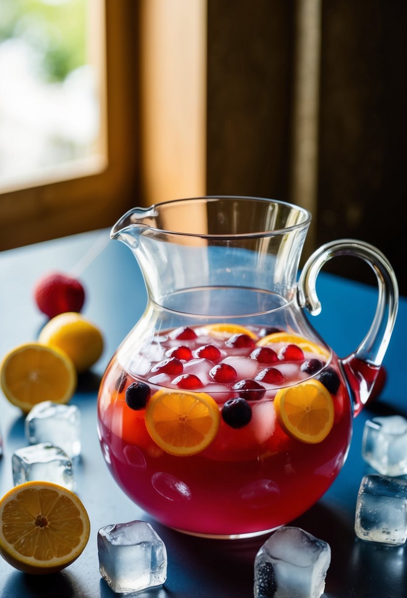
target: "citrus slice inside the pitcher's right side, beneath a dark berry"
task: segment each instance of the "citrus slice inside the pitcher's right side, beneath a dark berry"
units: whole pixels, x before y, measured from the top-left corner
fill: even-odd
[[[322,442],[334,425],[332,396],[318,380],[280,389],[274,406],[286,434],[303,443]]]

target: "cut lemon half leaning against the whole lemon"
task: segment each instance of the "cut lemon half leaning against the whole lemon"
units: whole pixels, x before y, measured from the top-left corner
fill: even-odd
[[[67,403],[75,392],[75,366],[57,347],[22,344],[7,353],[0,370],[5,396],[24,413],[41,401]]]

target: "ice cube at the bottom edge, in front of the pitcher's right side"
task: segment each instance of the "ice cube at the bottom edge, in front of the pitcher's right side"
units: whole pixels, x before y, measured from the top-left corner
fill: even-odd
[[[254,563],[255,598],[319,598],[331,548],[300,527],[280,527]]]

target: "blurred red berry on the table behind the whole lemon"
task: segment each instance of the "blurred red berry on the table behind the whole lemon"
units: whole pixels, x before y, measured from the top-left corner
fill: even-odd
[[[64,312],[79,313],[85,302],[85,290],[72,276],[53,272],[38,280],[34,298],[39,310],[51,319]]]

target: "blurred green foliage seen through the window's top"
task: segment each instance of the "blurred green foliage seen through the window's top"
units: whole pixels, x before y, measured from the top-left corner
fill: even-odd
[[[23,39],[41,77],[63,81],[87,62],[87,0],[0,0],[0,43]]]

